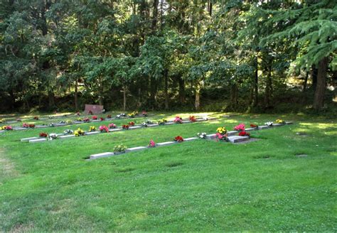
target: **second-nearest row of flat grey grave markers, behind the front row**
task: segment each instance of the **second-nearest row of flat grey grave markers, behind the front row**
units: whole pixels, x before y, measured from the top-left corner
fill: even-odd
[[[218,120],[217,118],[213,117],[213,118],[208,118],[208,119],[196,119],[197,122],[200,122],[200,121],[215,121],[215,120]],[[186,123],[191,123],[191,121],[189,120],[184,120],[182,121],[183,124],[186,124]],[[171,125],[171,124],[176,124],[175,122],[173,121],[168,121],[165,123],[165,125]],[[155,127],[155,126],[159,126],[159,124],[149,124],[147,127]],[[144,128],[144,126],[141,126],[141,125],[135,125],[135,126],[129,126],[129,130],[130,129],[141,129],[141,128]],[[122,131],[122,126],[118,126],[117,128],[115,129],[109,129],[109,132],[114,132],[114,131]],[[105,133],[101,133],[99,130],[97,131],[86,131],[85,132],[85,136],[89,136],[89,135],[95,135],[95,134],[105,134]],[[72,138],[75,138],[75,135],[73,134],[70,134],[70,135],[65,135],[65,134],[56,134],[58,136],[58,139],[72,139]],[[57,140],[57,139],[54,139],[54,140]],[[21,141],[23,142],[30,142],[30,143],[38,143],[38,142],[45,142],[45,141],[48,141],[48,139],[46,138],[41,138],[41,137],[31,137],[31,138],[26,138],[26,139],[21,139]]]

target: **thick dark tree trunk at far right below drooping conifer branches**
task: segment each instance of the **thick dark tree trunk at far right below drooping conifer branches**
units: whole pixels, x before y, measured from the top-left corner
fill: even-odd
[[[314,109],[319,110],[324,104],[324,94],[326,90],[326,70],[328,69],[328,58],[323,58],[319,62],[317,72],[317,85],[314,98]]]

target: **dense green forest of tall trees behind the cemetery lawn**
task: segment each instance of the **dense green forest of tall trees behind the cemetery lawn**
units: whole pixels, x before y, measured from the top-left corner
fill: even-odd
[[[336,1],[0,0],[0,110],[336,107]]]

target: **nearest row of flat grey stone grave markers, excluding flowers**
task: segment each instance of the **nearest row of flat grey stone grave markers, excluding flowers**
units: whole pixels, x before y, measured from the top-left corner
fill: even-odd
[[[273,124],[272,127],[276,127],[276,126],[284,126],[286,124],[293,124],[292,122],[286,122],[285,124]],[[254,131],[254,130],[261,130],[261,129],[271,129],[272,127],[269,126],[258,126],[257,128],[249,128],[249,129],[245,129],[245,131]],[[250,136],[235,136],[235,134],[237,134],[238,131],[228,131],[228,141],[230,141],[230,143],[238,143],[238,142],[242,142],[242,141],[248,141],[250,140]],[[183,141],[193,141],[199,139],[198,137],[191,137],[188,139],[183,139]],[[208,134],[206,135],[206,139],[216,139],[216,134]],[[177,141],[166,141],[166,142],[162,142],[162,143],[156,143],[156,146],[170,146],[173,144],[178,143]],[[133,148],[127,148],[127,150],[125,151],[125,153],[129,153],[132,151],[143,151],[145,149],[149,148],[148,146],[137,146],[137,147],[133,147]],[[97,154],[93,154],[90,155],[90,158],[88,160],[93,160],[93,159],[97,159],[97,158],[105,158],[105,157],[110,157],[110,156],[117,156],[120,155],[121,153],[113,153],[113,152],[105,152],[105,153],[97,153]]]

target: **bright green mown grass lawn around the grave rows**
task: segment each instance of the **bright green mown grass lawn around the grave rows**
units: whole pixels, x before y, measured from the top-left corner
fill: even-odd
[[[171,141],[277,118],[295,124],[252,131],[260,139],[252,143],[200,139],[84,159],[121,143],[146,146],[150,139]],[[81,128],[90,125],[102,123]],[[337,230],[336,120],[243,115],[46,143],[19,141],[65,129],[77,126],[0,134],[0,231]]]

